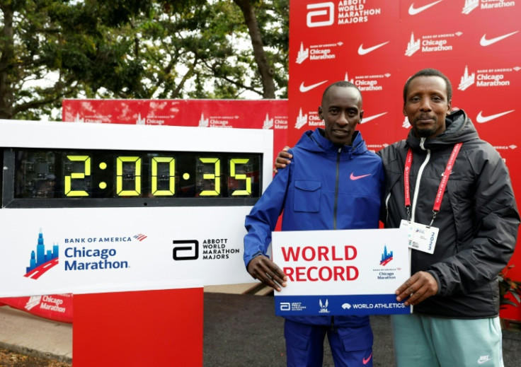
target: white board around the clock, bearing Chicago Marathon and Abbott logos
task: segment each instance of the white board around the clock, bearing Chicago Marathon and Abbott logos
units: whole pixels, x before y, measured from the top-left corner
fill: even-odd
[[[65,168],[60,172],[56,168],[56,175],[47,171],[42,173],[49,180],[50,177],[57,180],[56,185],[60,185],[62,182],[59,180],[62,180],[66,186],[69,177],[69,196],[74,197],[62,193],[61,198],[17,199],[18,188],[12,181],[18,182],[17,185],[32,185],[26,182],[28,179],[18,180],[17,177],[29,176],[27,169],[24,168],[23,173],[11,172],[15,164],[8,157],[25,152],[20,148],[50,149],[53,153],[59,153],[59,149],[74,149],[74,155],[62,153],[61,157],[82,160],[81,174],[64,173]],[[239,157],[241,153],[260,153],[262,167],[259,170],[262,174],[259,175],[259,184],[265,189],[272,177],[273,131],[0,120],[0,149],[4,158],[0,297],[173,289],[252,281],[244,267],[243,237],[246,234],[244,219],[253,206],[253,197],[234,198],[230,194],[229,198],[221,199],[214,191],[215,197],[210,192],[209,197],[197,194],[188,199],[173,194],[166,199],[140,195],[141,203],[125,202],[127,199],[124,197],[91,199],[76,197],[79,194],[88,196],[91,192],[83,190],[83,187],[82,190],[74,188],[74,180],[84,184],[86,177],[89,180],[92,177],[91,181],[96,181],[94,171],[99,170],[98,165],[89,165],[88,169],[87,165],[95,161],[99,152],[116,158],[127,158],[122,157],[125,153],[121,153],[127,151],[134,156],[146,155],[149,151],[197,152],[201,156],[210,156],[205,152],[236,152]],[[78,149],[85,151],[77,153]],[[111,153],[115,149],[120,153]],[[58,153],[55,156],[58,157]],[[159,162],[157,164],[164,162],[155,158],[156,155],[153,157]],[[167,168],[173,167],[171,161],[167,162]],[[238,168],[243,161],[234,161],[232,168]],[[125,160],[121,164],[124,163]],[[50,163],[46,161],[45,164],[45,170],[50,170]],[[58,164],[52,161],[52,169]],[[103,169],[110,164],[107,161]],[[136,163],[133,164],[135,167]],[[213,169],[210,180],[218,182],[215,171],[223,168],[214,161],[210,165]],[[42,170],[30,169],[32,173]],[[114,168],[114,175],[115,172]],[[66,178],[55,178],[60,174]],[[142,173],[142,177],[145,175]],[[155,175],[159,177],[157,173]],[[195,170],[191,175],[195,175]],[[197,175],[203,173],[197,172]],[[204,175],[206,179],[207,173]],[[234,175],[234,180],[222,178],[222,185],[233,184],[236,187],[237,182],[248,180],[246,175],[240,176],[238,170]],[[185,173],[185,177],[188,176]],[[38,177],[38,172],[31,177]],[[115,177],[113,184],[102,182],[103,188],[122,186],[124,179]],[[134,191],[141,194],[139,181],[132,175],[131,179],[136,188]],[[144,180],[146,178],[142,178],[142,182]],[[158,180],[156,178],[156,182]],[[168,182],[173,182],[173,178]],[[4,194],[9,192],[10,186],[14,186],[11,187],[12,200],[5,204]],[[101,191],[97,187],[96,190]],[[155,190],[156,193],[169,194],[168,190]],[[241,190],[241,194],[251,190],[250,185]],[[124,194],[128,195],[128,192],[132,194],[128,190]],[[170,202],[161,204],[165,200]],[[176,206],[183,200],[188,202]],[[33,203],[37,203],[36,207],[30,207]],[[150,204],[147,206],[147,203]]]

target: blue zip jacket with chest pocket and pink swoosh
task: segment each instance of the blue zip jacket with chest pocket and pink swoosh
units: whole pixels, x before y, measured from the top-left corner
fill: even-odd
[[[352,146],[335,146],[324,130],[305,132],[290,150],[292,163],[280,170],[246,216],[244,263],[266,255],[282,210],[282,231],[378,228],[384,190],[382,160],[367,150],[360,132]],[[357,318],[335,318],[335,325]],[[303,316],[299,322],[328,325],[331,317]],[[368,318],[367,318],[368,320]],[[351,322],[350,322],[351,321]]]

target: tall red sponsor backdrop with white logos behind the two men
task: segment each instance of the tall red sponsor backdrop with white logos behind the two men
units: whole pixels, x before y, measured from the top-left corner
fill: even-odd
[[[452,81],[452,107],[505,159],[521,206],[520,18],[518,0],[291,0],[288,143],[323,125],[321,93],[338,80],[362,91],[370,149],[405,139],[403,84],[433,67]],[[520,280],[521,249],[510,263]],[[521,320],[521,307],[502,316]]]

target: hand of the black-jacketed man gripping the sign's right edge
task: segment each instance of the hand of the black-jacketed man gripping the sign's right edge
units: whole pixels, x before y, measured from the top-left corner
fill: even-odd
[[[407,305],[418,305],[430,296],[437,293],[437,281],[428,272],[417,272],[411,278],[407,279],[399,289],[396,289],[396,301],[401,301],[407,297],[409,299],[404,303]]]

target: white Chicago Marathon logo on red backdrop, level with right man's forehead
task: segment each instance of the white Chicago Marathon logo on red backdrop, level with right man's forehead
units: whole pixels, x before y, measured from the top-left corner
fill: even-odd
[[[465,91],[474,84],[478,88],[510,86],[510,78],[513,78],[513,73],[520,71],[520,69],[520,66],[514,66],[512,68],[505,67],[469,71],[469,66],[465,66],[462,78],[459,81],[458,90]]]

